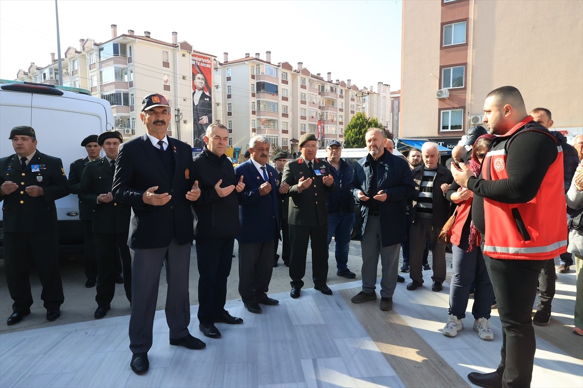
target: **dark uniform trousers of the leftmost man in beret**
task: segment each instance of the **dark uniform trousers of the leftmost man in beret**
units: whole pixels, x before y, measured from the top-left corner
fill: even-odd
[[[40,298],[47,310],[63,304],[63,285],[59,272],[57,229],[47,232],[4,232],[4,265],[6,283],[14,301],[13,312],[30,312],[33,296],[30,291],[30,264],[34,260],[43,286]]]

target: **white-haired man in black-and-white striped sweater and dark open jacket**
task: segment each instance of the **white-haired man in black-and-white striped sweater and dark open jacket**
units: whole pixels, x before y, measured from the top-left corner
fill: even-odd
[[[409,236],[409,266],[411,283],[409,291],[423,285],[422,258],[425,241],[429,239],[433,256],[433,284],[431,290],[441,291],[445,280],[445,245],[437,236],[451,215],[451,204],[445,198],[453,177],[451,172],[439,164],[440,153],[437,143],[427,141],[421,148],[423,163],[413,170],[416,192],[413,197],[411,231]],[[444,191],[445,190],[445,191]]]

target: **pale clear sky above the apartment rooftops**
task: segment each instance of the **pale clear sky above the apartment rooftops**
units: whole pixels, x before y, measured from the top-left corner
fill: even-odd
[[[271,62],[303,62],[332,80],[360,88],[401,84],[401,0],[153,1],[59,0],[61,55],[79,40],[104,42],[150,31],[152,38],[186,40],[197,51],[229,59],[271,51]],[[44,67],[57,53],[54,0],[0,0],[0,78],[15,79],[30,62]]]

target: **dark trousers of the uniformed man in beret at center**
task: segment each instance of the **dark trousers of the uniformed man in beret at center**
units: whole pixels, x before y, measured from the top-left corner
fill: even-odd
[[[312,248],[312,280],[314,286],[324,286],[328,277],[328,224],[318,226],[289,225],[291,245],[290,277],[291,287],[304,286],[305,255],[308,241]]]

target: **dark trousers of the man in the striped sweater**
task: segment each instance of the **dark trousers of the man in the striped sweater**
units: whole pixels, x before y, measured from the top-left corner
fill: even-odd
[[[431,256],[433,257],[433,262],[431,263],[433,276],[431,276],[431,279],[434,282],[440,283],[445,281],[445,244],[437,241],[440,232],[441,229],[433,227],[433,219],[423,217],[415,218],[415,222],[411,225],[409,235],[409,244],[411,245],[409,277],[411,280],[416,280],[423,284],[423,267],[421,266],[421,262],[426,239],[429,239],[429,247],[431,248]]]

